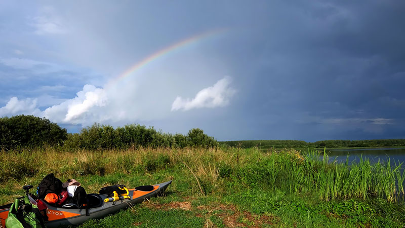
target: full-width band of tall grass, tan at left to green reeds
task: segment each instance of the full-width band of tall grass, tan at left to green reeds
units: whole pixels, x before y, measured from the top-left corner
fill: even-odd
[[[139,175],[173,170],[198,194],[197,183],[184,161],[204,185],[206,194],[234,187],[266,188],[289,194],[316,194],[320,200],[381,198],[403,201],[402,164],[371,164],[360,159],[349,164],[329,161],[328,155],[294,149],[262,152],[257,148],[130,148],[72,152],[54,148],[0,151],[0,187],[24,178],[38,181],[48,173],[60,179],[124,173]],[[173,177],[172,177],[173,178]],[[229,187],[229,186],[228,186]]]

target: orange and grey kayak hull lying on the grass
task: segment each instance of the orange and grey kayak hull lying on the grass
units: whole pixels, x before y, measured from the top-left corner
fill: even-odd
[[[44,203],[48,206],[47,215],[48,221],[46,221],[47,227],[57,227],[66,225],[79,225],[89,219],[103,218],[108,214],[113,214],[121,209],[125,209],[134,204],[142,203],[145,199],[149,199],[158,194],[163,194],[165,189],[172,181],[147,186],[140,186],[132,189],[128,189],[128,197],[113,202],[105,202],[107,195],[102,194],[88,194],[89,200],[89,215],[86,215],[86,209],[73,209],[65,207],[55,207]],[[152,188],[153,186],[153,188]],[[12,204],[0,206],[0,221],[3,227],[5,227],[5,220],[8,216],[10,207]]]

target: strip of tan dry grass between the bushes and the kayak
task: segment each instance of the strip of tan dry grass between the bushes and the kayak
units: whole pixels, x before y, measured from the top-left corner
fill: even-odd
[[[19,151],[0,151],[0,182],[15,178],[16,173],[23,176],[44,175],[55,173],[61,176],[61,179],[71,176],[97,174],[103,176],[107,173],[115,173],[123,170],[131,173],[134,167],[145,165],[145,161],[156,161],[159,156],[169,158],[171,165],[179,164],[176,153],[193,170],[199,167],[205,167],[203,162],[218,162],[229,158],[223,150],[185,148],[185,149],[167,149],[167,148],[130,148],[126,150],[76,150],[59,151],[52,147],[38,150]],[[204,158],[202,158],[204,157]],[[21,170],[26,168],[26,170]],[[213,167],[207,167],[212,169]],[[204,169],[204,168],[203,168]],[[208,169],[201,170],[204,173]],[[215,179],[215,173],[210,171]],[[212,179],[212,178],[211,178]]]

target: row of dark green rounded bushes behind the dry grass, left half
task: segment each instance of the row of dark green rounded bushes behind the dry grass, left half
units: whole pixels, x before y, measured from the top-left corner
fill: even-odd
[[[187,146],[213,148],[218,146],[218,142],[198,128],[191,129],[185,136],[163,133],[139,124],[114,129],[110,125],[94,123],[80,133],[68,134],[66,129],[45,118],[24,115],[0,118],[0,149],[44,145],[63,145],[68,150],[97,150]]]

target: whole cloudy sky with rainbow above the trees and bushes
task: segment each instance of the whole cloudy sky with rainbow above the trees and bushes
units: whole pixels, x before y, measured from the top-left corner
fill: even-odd
[[[0,117],[405,138],[404,1],[0,1]]]

